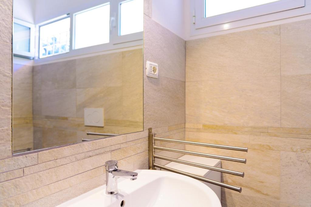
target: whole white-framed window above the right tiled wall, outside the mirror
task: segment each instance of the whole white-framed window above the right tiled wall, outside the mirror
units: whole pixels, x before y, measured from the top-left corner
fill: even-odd
[[[209,30],[215,32],[259,24],[303,15],[293,10],[304,6],[305,0],[195,0],[194,28],[215,26]]]

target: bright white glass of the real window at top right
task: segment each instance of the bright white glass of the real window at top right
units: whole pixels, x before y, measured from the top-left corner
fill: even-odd
[[[278,0],[205,0],[205,17],[225,14]]]

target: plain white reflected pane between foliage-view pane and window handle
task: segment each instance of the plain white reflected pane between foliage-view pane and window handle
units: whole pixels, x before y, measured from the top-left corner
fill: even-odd
[[[74,49],[109,43],[110,4],[74,14]]]

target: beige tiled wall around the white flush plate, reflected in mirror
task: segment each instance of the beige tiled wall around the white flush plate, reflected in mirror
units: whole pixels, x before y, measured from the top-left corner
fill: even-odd
[[[34,148],[143,130],[142,67],[142,49],[34,66]],[[84,108],[103,108],[105,126],[84,126]]]

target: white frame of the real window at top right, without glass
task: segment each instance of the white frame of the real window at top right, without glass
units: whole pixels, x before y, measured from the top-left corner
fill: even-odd
[[[205,0],[195,0],[195,11],[193,14],[195,16],[195,22],[193,22],[194,29],[213,27],[209,29],[210,33],[299,16],[297,13],[303,15],[305,12],[294,11],[304,8],[306,6],[305,1],[309,2],[309,0],[279,0],[225,14],[205,17]]]

